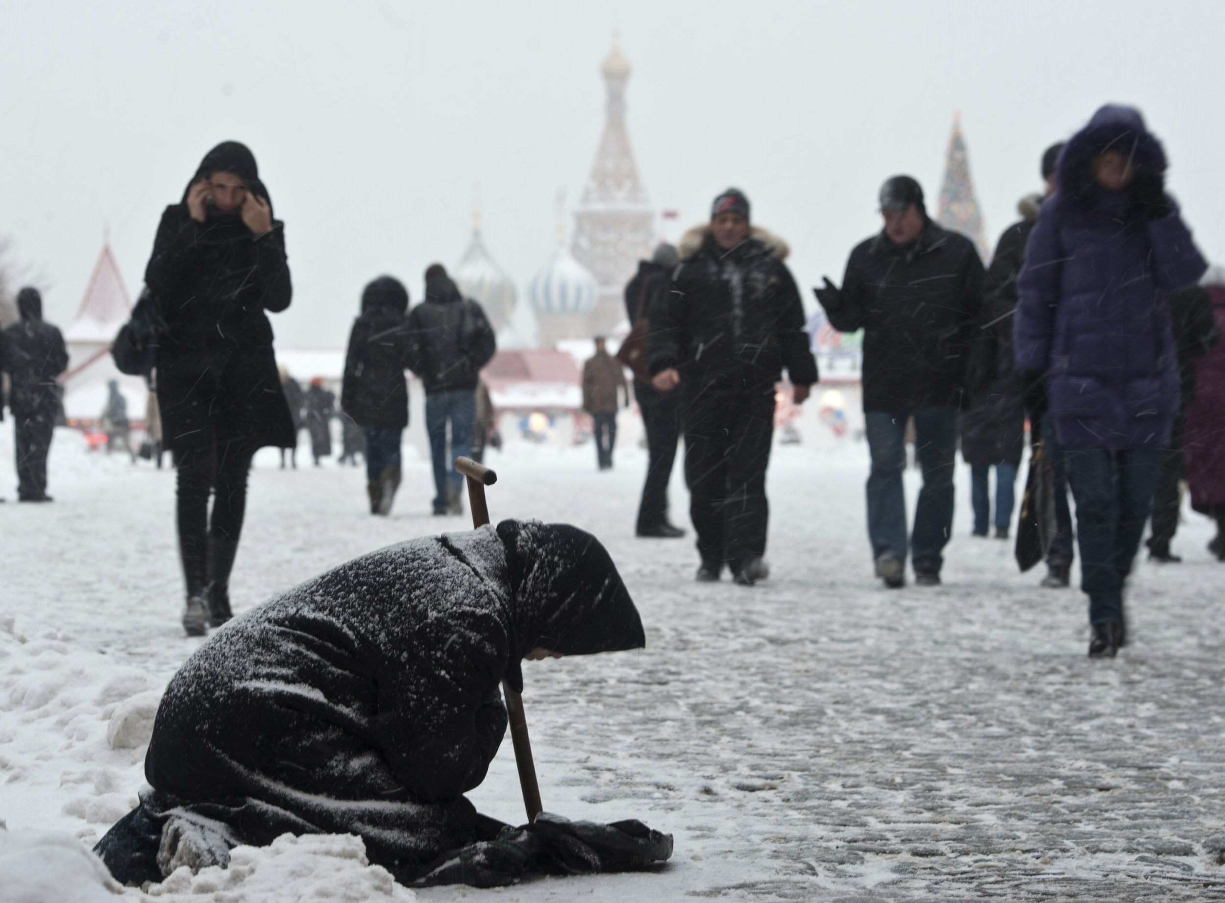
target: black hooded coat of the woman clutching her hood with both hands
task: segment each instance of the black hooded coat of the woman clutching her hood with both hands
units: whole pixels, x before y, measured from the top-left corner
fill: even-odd
[[[252,235],[241,213],[209,210],[197,223],[187,191],[211,173],[233,173],[268,205],[255,157],[227,141],[201,162],[183,201],[162,214],[145,282],[164,333],[157,354],[158,404],[165,445],[176,452],[227,445],[240,453],[292,447],[293,420],[265,311],[289,306],[293,285],[284,223]]]

